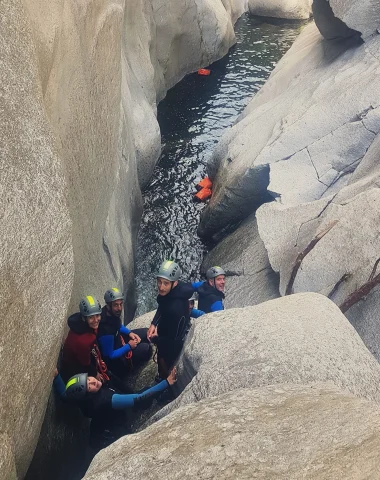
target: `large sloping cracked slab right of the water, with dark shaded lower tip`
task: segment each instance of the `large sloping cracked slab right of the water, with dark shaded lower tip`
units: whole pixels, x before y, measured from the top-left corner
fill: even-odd
[[[349,182],[379,132],[379,45],[380,36],[357,44],[304,29],[214,151],[202,237],[252,213],[267,190],[294,205]]]

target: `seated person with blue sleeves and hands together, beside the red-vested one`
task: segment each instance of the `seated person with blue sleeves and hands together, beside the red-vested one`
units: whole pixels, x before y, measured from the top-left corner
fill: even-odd
[[[118,288],[104,294],[106,305],[98,329],[98,342],[108,368],[123,378],[132,367],[147,362],[152,353],[147,328],[129,330],[121,323],[124,296]]]

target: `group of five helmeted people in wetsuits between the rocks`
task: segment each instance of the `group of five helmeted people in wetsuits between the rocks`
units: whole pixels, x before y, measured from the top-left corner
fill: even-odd
[[[225,272],[221,267],[207,270],[205,282],[185,283],[179,280],[181,274],[179,265],[171,260],[160,266],[156,275],[158,308],[149,328],[130,330],[122,324],[124,296],[118,288],[105,292],[103,308],[94,296],[87,295],[79,303],[79,312],[69,317],[54,387],[62,400],[76,404],[92,418],[92,430],[107,430],[115,419],[119,422],[116,412],[145,408],[173,385],[190,317],[224,309]],[[156,384],[131,393],[125,379],[150,360],[152,345],[157,346]]]

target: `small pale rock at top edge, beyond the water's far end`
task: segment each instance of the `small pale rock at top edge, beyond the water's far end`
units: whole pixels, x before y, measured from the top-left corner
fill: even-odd
[[[249,0],[249,12],[263,17],[307,19],[312,0]]]

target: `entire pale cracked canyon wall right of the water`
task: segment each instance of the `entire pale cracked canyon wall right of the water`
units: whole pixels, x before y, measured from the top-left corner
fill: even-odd
[[[267,255],[279,275],[278,294],[329,296],[380,359],[380,5],[315,0],[313,11],[316,24],[304,29],[215,149],[215,189],[199,233],[217,238],[244,220],[234,232],[242,237],[252,224],[259,258]],[[213,261],[223,264],[225,254],[219,244]],[[258,286],[259,301],[273,298],[272,285],[265,293],[260,278],[244,275],[259,271],[257,254],[240,270],[243,256],[235,257],[232,285],[251,292]]]

